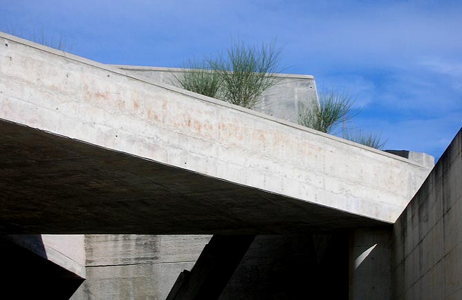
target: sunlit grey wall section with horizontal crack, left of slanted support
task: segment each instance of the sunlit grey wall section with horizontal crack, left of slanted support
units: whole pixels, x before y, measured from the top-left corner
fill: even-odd
[[[86,280],[72,300],[165,300],[210,237],[86,234]]]

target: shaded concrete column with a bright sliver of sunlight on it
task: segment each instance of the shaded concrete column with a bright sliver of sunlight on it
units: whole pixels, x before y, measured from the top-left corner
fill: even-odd
[[[392,228],[362,228],[350,234],[350,300],[391,300]]]

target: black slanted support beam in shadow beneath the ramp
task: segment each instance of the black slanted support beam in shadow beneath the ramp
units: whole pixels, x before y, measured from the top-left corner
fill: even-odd
[[[216,300],[255,236],[214,235],[191,272],[181,272],[167,300]]]

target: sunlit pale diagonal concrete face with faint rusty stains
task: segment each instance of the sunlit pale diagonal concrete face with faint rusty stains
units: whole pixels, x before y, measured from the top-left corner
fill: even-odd
[[[429,170],[8,34],[0,119],[300,203],[394,222]]]

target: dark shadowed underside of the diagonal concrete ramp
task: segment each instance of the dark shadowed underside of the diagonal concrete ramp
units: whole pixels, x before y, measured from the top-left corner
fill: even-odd
[[[15,233],[281,233],[382,222],[0,122],[1,214]]]

